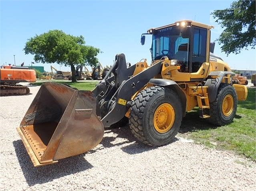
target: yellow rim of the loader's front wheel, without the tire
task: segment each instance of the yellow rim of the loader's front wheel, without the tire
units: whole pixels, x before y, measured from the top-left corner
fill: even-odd
[[[173,106],[169,103],[161,104],[154,114],[154,127],[159,133],[166,133],[169,131],[175,120],[175,111]]]

